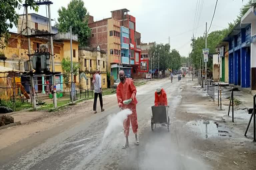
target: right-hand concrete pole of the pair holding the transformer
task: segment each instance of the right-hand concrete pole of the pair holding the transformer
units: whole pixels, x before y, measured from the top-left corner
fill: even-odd
[[[48,4],[48,13],[49,13],[49,33],[52,33],[52,21],[51,21],[51,9],[50,4]],[[54,65],[54,53],[53,53],[53,38],[50,36],[51,42],[51,59],[52,59],[52,83],[53,83],[53,104],[54,108],[57,108],[57,96],[56,96],[56,80],[55,80],[55,65]]]

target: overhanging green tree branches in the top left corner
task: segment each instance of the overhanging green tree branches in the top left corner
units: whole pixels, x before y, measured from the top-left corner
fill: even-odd
[[[0,48],[4,48],[10,38],[9,29],[18,25],[19,16],[16,9],[21,8],[22,0],[1,0],[0,1]],[[38,6],[34,0],[25,0],[25,3],[30,5],[30,9],[38,11]]]

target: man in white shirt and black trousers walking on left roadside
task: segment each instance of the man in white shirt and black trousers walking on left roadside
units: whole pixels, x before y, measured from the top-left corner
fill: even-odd
[[[105,109],[103,109],[101,77],[100,77],[99,73],[100,73],[100,71],[98,69],[96,69],[96,73],[93,75],[93,80],[92,80],[92,83],[94,85],[94,102],[93,102],[94,114],[97,113],[96,107],[97,107],[98,96],[100,98],[101,112],[103,112],[105,110]]]

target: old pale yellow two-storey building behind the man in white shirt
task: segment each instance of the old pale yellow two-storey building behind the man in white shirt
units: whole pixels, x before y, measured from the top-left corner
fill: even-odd
[[[101,75],[101,87],[107,88],[107,66],[106,52],[100,50],[99,45],[96,48],[79,48],[79,88],[93,89],[93,75],[96,69],[99,69]]]

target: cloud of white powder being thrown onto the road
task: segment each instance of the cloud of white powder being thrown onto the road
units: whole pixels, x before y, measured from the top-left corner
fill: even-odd
[[[110,115],[108,117],[108,126],[104,132],[103,141],[112,133],[117,132],[121,128],[123,128],[124,120],[127,118],[128,115],[131,115],[131,114],[132,114],[132,111],[130,109],[124,109],[115,115]]]

